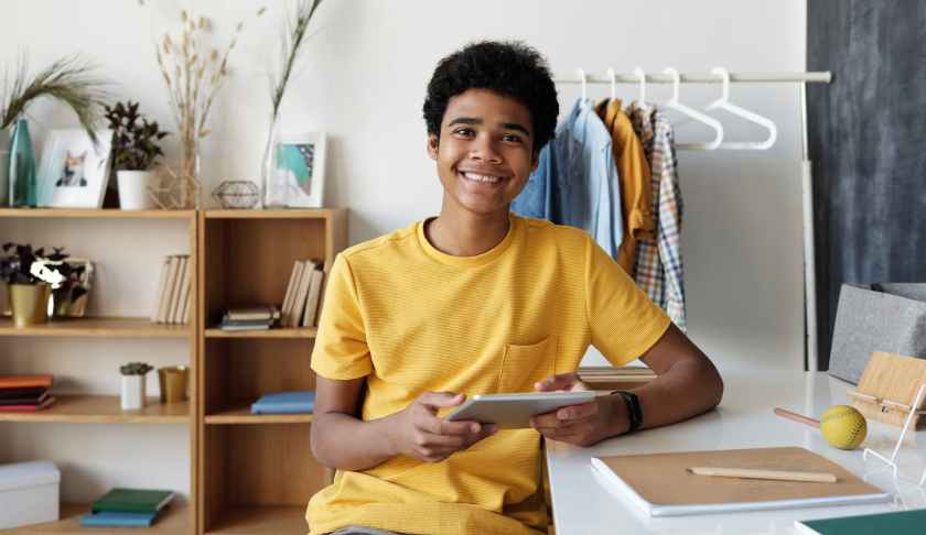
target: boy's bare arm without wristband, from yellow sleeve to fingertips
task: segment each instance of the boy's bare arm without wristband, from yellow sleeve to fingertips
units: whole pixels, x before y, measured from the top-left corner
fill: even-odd
[[[316,376],[311,444],[322,465],[366,470],[397,455],[438,462],[495,433],[494,426],[439,418],[439,408],[465,400],[446,392],[426,392],[398,413],[365,422],[359,418],[365,382]]]

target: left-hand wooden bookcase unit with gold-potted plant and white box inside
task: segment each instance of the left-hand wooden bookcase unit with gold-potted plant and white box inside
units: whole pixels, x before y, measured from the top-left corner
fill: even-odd
[[[198,212],[196,210],[140,210],[129,211],[119,209],[19,209],[19,208],[0,208],[0,236],[3,236],[4,241],[18,241],[18,233],[30,229],[31,226],[36,225],[36,228],[52,228],[45,226],[49,220],[56,219],[72,219],[97,221],[99,228],[106,229],[109,232],[111,229],[121,229],[122,221],[133,220],[133,229],[144,229],[148,221],[158,228],[163,228],[164,222],[171,228],[180,226],[186,237],[185,251],[190,254],[190,261],[193,262],[192,268],[195,273],[197,270],[197,237],[198,237]],[[138,222],[140,221],[140,222]],[[64,223],[67,225],[67,223]],[[88,226],[88,229],[97,228],[97,225]],[[157,232],[151,234],[157,239]],[[95,239],[93,232],[80,234],[79,241],[75,240],[68,242],[56,242],[55,245],[65,247],[65,250],[73,252],[79,249],[80,243],[85,240],[91,242]],[[101,238],[100,238],[101,239]],[[126,254],[144,254],[144,248],[138,251],[127,251]],[[93,260],[93,259],[91,259]],[[159,263],[161,258],[155,258],[153,254],[150,259],[143,259],[153,264]],[[105,273],[105,266],[97,264],[100,268],[98,276]],[[193,293],[193,301],[191,305],[194,307],[194,314],[191,314],[189,325],[159,325],[152,324],[147,317],[149,310],[133,310],[134,317],[117,317],[107,316],[105,310],[99,316],[90,316],[84,318],[67,318],[53,319],[46,324],[31,326],[26,328],[15,328],[10,318],[0,318],[0,338],[12,337],[32,337],[32,338],[64,338],[64,337],[84,337],[84,338],[114,338],[114,339],[130,339],[139,340],[140,343],[151,342],[157,339],[175,339],[186,340],[187,343],[187,362],[190,368],[190,400],[182,403],[161,404],[157,397],[150,397],[148,405],[138,411],[122,411],[120,407],[120,400],[118,395],[98,395],[91,393],[74,393],[74,394],[58,394],[55,387],[52,387],[52,394],[56,397],[56,403],[51,407],[35,413],[0,413],[0,422],[8,423],[68,423],[68,424],[176,424],[189,426],[189,448],[190,452],[190,502],[195,503],[197,496],[196,478],[196,455],[198,452],[198,426],[197,426],[197,404],[200,403],[197,392],[197,336],[200,334],[200,318],[195,310],[196,298],[200,295],[196,284],[198,280],[194,277],[192,281],[191,292]],[[148,290],[146,290],[148,291]],[[93,298],[93,297],[91,297]],[[23,343],[23,342],[18,342]],[[31,343],[31,342],[28,342]],[[9,373],[7,371],[7,362],[3,359],[3,351],[0,350],[0,373]],[[93,367],[93,357],[87,356],[87,365]],[[54,369],[46,370],[49,373],[55,374]],[[151,433],[158,433],[158,426],[152,427]],[[119,440],[119,430],[114,428],[112,436],[107,437],[114,441]],[[0,434],[0,440],[3,435]],[[131,455],[128,450],[127,455]],[[4,461],[15,461],[20,459],[4,459]],[[22,459],[26,460],[26,459]],[[51,459],[55,460],[55,459]],[[67,467],[65,466],[63,477],[68,477]],[[80,470],[90,467],[79,468]],[[161,469],[161,467],[159,467]],[[162,467],[164,470],[171,470],[172,467]],[[196,507],[172,503],[161,517],[151,528],[144,529],[146,533],[153,533],[158,535],[196,535]],[[2,506],[2,505],[0,505]],[[51,522],[45,524],[36,524],[23,526],[20,528],[10,529],[4,533],[23,533],[23,534],[86,534],[86,533],[106,533],[110,535],[127,535],[138,533],[137,528],[84,528],[79,526],[79,516],[89,510],[88,505],[62,505],[62,520],[58,522]]]

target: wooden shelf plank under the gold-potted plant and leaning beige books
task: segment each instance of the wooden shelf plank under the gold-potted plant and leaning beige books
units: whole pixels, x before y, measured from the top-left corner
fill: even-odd
[[[190,325],[152,324],[148,318],[85,317],[53,319],[46,324],[17,328],[12,319],[0,318],[0,336],[80,336],[111,338],[186,338]]]

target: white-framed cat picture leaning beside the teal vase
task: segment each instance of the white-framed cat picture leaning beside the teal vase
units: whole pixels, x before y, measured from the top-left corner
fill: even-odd
[[[39,165],[37,204],[52,208],[103,208],[109,179],[112,131],[52,130]]]

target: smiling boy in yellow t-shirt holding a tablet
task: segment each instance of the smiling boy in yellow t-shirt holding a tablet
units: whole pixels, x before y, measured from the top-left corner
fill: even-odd
[[[537,535],[541,435],[588,446],[719,403],[708,358],[584,231],[509,212],[558,110],[523,44],[476,43],[438,65],[424,118],[440,216],[347,249],[331,271],[312,451],[337,472],[309,503],[312,534]],[[440,417],[466,395],[582,389],[590,342],[658,379],[534,429]]]

